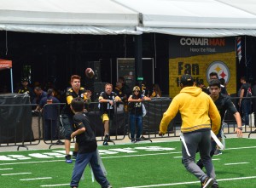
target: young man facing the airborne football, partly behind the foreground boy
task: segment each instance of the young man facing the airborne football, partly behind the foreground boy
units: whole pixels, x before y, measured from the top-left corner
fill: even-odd
[[[67,89],[66,92],[66,104],[61,112],[61,123],[65,128],[65,151],[66,151],[66,162],[72,163],[71,155],[70,155],[70,144],[71,144],[71,134],[73,132],[73,111],[70,109],[71,101],[74,98],[82,98],[84,102],[90,102],[91,92],[81,87],[81,77],[78,75],[73,75],[70,78],[71,88]],[[76,142],[75,148],[73,151],[73,158],[77,156],[77,151],[79,149],[79,145]]]

